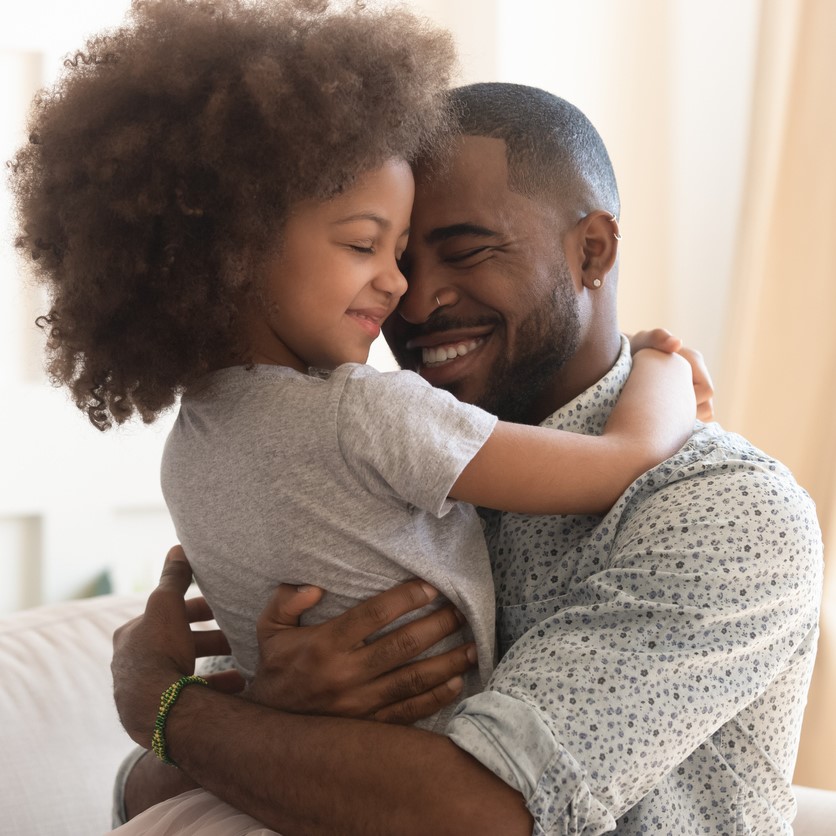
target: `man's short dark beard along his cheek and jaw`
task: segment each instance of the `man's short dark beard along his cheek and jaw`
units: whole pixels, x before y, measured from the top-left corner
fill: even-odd
[[[572,278],[565,268],[556,274],[553,293],[518,325],[512,352],[493,367],[477,400],[502,421],[531,423],[534,405],[578,350],[581,327]]]

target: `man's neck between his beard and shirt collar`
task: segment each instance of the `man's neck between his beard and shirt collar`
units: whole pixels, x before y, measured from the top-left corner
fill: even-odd
[[[620,351],[621,334],[617,328],[607,329],[606,334],[588,334],[581,347],[543,387],[541,397],[531,405],[526,423],[541,424],[597,383],[615,365]]]

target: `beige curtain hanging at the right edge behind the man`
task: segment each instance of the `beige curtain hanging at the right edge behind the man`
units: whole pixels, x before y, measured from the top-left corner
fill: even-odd
[[[722,125],[718,126],[722,130]],[[795,780],[836,789],[836,2],[764,0],[720,420],[784,461],[825,539]],[[827,559],[829,556],[829,565]]]

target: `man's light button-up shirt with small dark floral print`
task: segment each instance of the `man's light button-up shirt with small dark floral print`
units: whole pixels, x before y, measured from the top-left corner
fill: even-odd
[[[544,426],[599,434],[616,365]],[[603,516],[485,517],[504,656],[448,734],[535,834],[791,834],[821,535],[778,462],[698,424]]]

